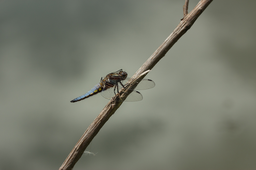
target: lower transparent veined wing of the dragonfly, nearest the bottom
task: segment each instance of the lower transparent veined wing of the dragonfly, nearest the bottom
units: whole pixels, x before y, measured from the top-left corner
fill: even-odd
[[[113,97],[115,97],[116,94],[118,94],[118,91],[120,92],[120,90],[122,89],[123,87],[121,86],[105,86],[105,89],[103,89],[101,91],[101,95],[106,98],[106,99],[109,99],[111,100]],[[128,89],[130,90],[130,89]],[[140,101],[143,99],[142,97],[142,94],[136,90],[130,90],[132,91],[130,93],[130,95],[124,100],[124,101]],[[121,92],[122,93],[122,92]],[[121,99],[119,100],[121,101]]]

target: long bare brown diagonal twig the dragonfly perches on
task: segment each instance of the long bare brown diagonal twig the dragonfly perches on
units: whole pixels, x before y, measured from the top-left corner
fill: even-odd
[[[186,15],[175,30],[167,37],[167,39],[161,44],[161,46],[153,53],[153,55],[142,65],[142,67],[132,76],[132,78],[140,77],[143,79],[147,73],[143,73],[147,70],[151,70],[156,63],[165,56],[167,51],[178,41],[178,39],[190,29],[196,19],[202,14],[205,8],[213,0],[201,0],[197,6]],[[142,74],[143,73],[143,74]],[[135,87],[134,87],[135,88]],[[127,94],[123,93],[122,98],[126,98]],[[84,150],[90,144],[91,140],[97,135],[102,126],[109,120],[115,111],[121,106],[122,102],[115,101],[113,98],[108,102],[88,129],[84,132],[83,136],[79,139],[75,147],[72,149],[67,159],[61,165],[59,170],[71,170],[76,162],[82,156]]]

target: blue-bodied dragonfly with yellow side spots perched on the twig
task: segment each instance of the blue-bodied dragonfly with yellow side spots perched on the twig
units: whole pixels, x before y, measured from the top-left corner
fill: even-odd
[[[128,82],[132,82],[129,83]],[[137,85],[135,89],[131,89],[133,85]],[[71,100],[71,103],[81,101],[93,95],[100,93],[104,98],[111,100],[113,97],[116,97],[117,94],[125,93],[127,91],[130,95],[124,101],[140,101],[143,99],[142,94],[136,90],[145,90],[149,88],[155,87],[155,83],[149,79],[132,79],[127,77],[127,73],[125,71],[118,70],[116,72],[112,72],[104,77],[104,79],[100,80],[100,83],[96,84],[90,91],[86,94]],[[122,88],[124,90],[120,91]],[[122,101],[120,98],[116,99],[117,101]]]

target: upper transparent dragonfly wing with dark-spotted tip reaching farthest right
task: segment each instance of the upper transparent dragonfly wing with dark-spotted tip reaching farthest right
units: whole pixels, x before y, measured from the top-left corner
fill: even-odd
[[[127,86],[128,81],[134,81],[130,86],[133,86],[134,84],[138,84],[134,90],[146,90],[149,88],[155,87],[155,82],[149,79],[131,79],[129,77],[126,77],[125,80],[121,81],[122,84],[125,86],[125,88],[129,88]]]

